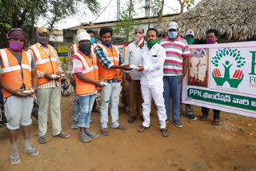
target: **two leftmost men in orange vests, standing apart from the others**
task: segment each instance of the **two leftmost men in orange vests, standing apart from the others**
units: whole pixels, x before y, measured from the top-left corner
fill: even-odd
[[[22,125],[25,153],[37,156],[38,149],[30,145],[31,110],[34,105],[34,93],[38,99],[38,142],[45,144],[47,129],[47,111],[50,103],[53,137],[68,138],[62,132],[61,125],[61,62],[54,47],[48,44],[50,33],[38,28],[37,43],[25,50],[27,34],[18,28],[10,30],[6,37],[9,47],[0,50],[0,85],[4,97],[12,153],[10,162],[18,164],[18,129]]]

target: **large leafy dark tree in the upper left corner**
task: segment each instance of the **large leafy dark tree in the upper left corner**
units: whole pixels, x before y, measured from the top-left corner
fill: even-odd
[[[10,28],[18,27],[26,30],[30,40],[34,39],[34,26],[38,18],[45,17],[48,20],[46,27],[53,29],[59,20],[75,13],[75,9],[81,3],[86,4],[88,10],[96,14],[100,9],[97,0],[2,0],[0,1],[0,47],[5,47],[6,32]]]

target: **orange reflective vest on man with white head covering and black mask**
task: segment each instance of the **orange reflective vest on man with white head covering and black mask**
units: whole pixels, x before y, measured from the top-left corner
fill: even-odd
[[[98,81],[98,66],[95,54],[91,52],[90,58],[88,58],[85,54],[78,52],[74,54],[74,56],[78,57],[82,62],[82,74],[85,75],[87,78],[90,78],[91,80]],[[74,56],[72,57],[72,61]],[[82,82],[76,77],[75,74],[74,78],[78,95],[94,93],[94,91],[96,90],[96,85],[88,82]]]

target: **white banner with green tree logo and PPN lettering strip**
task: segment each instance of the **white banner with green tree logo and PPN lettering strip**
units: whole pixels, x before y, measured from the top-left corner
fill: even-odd
[[[256,117],[256,42],[190,46],[182,102]]]

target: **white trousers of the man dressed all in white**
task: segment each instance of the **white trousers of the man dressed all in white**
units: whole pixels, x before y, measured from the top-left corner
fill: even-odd
[[[166,106],[163,98],[163,85],[142,85],[142,113],[144,121],[143,126],[150,126],[151,99],[158,108],[158,119],[160,121],[160,129],[166,128]]]

